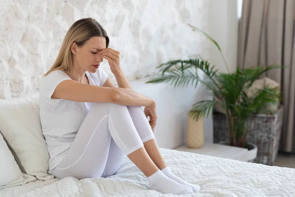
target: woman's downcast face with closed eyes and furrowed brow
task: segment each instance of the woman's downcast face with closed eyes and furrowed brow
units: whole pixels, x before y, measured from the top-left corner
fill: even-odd
[[[96,72],[103,61],[99,51],[106,48],[106,38],[101,36],[91,37],[83,46],[78,46],[75,42],[71,46],[74,54],[74,66],[85,71]]]

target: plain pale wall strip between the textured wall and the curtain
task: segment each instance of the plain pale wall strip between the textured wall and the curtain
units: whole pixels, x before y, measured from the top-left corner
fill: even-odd
[[[237,56],[237,0],[209,0],[209,35],[219,44],[229,70],[236,70]],[[210,62],[220,71],[227,72],[222,56],[213,44],[210,45]]]

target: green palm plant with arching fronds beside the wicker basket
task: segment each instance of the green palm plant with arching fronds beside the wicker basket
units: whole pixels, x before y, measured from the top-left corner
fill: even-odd
[[[191,26],[193,31],[203,33],[218,48],[227,66],[225,58],[217,42],[207,33]],[[228,66],[227,66],[228,67]],[[236,71],[224,73],[219,72],[215,66],[202,59],[173,60],[157,66],[159,73],[152,77],[147,83],[170,82],[174,86],[197,87],[198,83],[204,84],[210,90],[213,100],[201,100],[192,106],[189,115],[196,121],[204,116],[213,114],[214,106],[222,107],[226,114],[229,128],[228,145],[248,148],[252,158],[255,159],[257,146],[246,142],[246,135],[251,128],[251,123],[260,111],[267,111],[271,103],[278,103],[280,91],[278,87],[266,86],[263,89],[253,88],[253,83],[268,70],[281,68],[279,65],[255,66],[252,68],[240,68]],[[200,77],[200,72],[205,73],[205,78]],[[253,158],[254,157],[254,158]]]

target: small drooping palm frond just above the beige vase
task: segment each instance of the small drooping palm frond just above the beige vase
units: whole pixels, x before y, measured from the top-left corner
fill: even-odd
[[[202,100],[193,105],[193,108],[189,111],[189,115],[193,117],[193,119],[198,120],[201,117],[207,117],[211,113],[213,113],[214,105],[217,103],[216,100]]]

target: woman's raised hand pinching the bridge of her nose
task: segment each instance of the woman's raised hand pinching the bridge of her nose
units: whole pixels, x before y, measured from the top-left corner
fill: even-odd
[[[120,52],[112,48],[102,49],[100,52],[101,58],[106,59],[109,62],[111,71],[113,73],[120,69]]]

